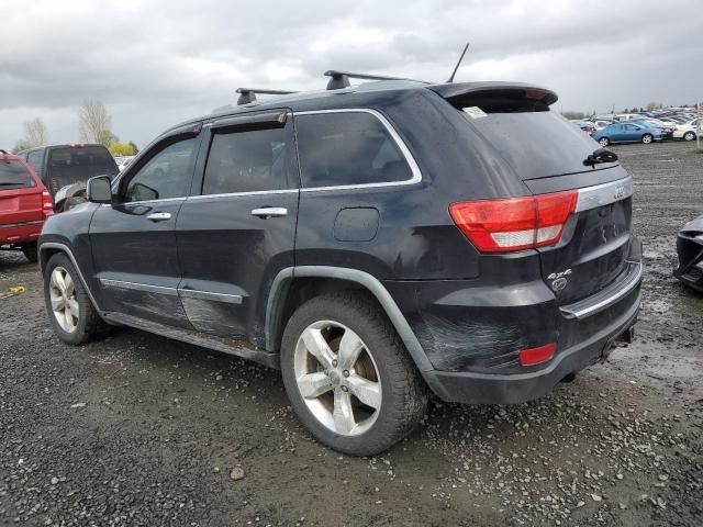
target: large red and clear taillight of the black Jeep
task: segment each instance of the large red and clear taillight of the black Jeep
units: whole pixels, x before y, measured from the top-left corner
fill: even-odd
[[[534,249],[559,242],[578,191],[527,198],[461,201],[449,205],[454,223],[482,253]]]

